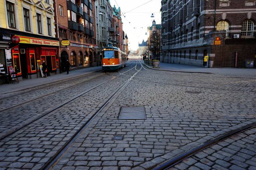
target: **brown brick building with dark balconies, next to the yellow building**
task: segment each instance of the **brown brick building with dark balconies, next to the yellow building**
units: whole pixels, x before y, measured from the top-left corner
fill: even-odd
[[[55,0],[54,4],[62,72],[66,60],[72,69],[97,66],[94,0]]]

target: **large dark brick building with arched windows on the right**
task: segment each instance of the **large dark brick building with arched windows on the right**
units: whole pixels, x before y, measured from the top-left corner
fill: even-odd
[[[166,63],[255,67],[256,1],[162,0],[162,52]]]

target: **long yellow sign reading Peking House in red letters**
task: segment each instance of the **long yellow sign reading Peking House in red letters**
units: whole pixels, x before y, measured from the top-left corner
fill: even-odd
[[[32,38],[27,36],[19,36],[19,39],[20,39],[19,43],[59,46],[59,41],[46,40],[41,38]]]

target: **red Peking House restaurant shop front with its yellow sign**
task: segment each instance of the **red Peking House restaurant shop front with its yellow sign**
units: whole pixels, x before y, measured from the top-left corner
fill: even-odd
[[[56,74],[59,68],[59,41],[29,37],[12,36],[12,66],[17,76],[25,79],[42,77],[41,63],[47,65],[47,75]]]

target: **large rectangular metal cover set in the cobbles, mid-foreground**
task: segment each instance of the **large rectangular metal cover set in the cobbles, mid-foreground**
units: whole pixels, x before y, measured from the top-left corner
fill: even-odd
[[[146,119],[144,107],[122,107],[118,119]]]

